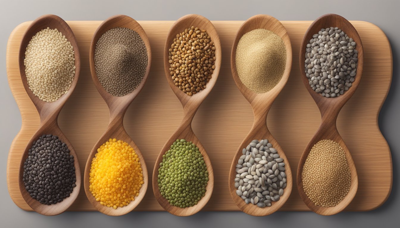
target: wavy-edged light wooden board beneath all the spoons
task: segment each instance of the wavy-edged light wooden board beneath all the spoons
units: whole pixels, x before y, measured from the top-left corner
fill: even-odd
[[[24,210],[32,210],[18,188],[18,167],[22,150],[39,126],[39,115],[22,85],[18,69],[18,50],[22,35],[31,22],[24,22],[11,33],[7,45],[8,82],[22,116],[22,127],[10,147],[7,185],[12,200]],[[81,75],[78,85],[61,111],[58,122],[78,154],[83,172],[86,159],[108,125],[108,108],[95,89],[89,70],[89,46],[101,21],[67,22],[78,41]],[[156,157],[165,141],[182,119],[182,106],[164,76],[163,50],[172,21],[140,21],[152,47],[152,67],[144,89],[130,105],[125,128],[142,151],[151,183]],[[228,174],[232,158],[253,123],[249,103],[236,87],[230,72],[230,52],[242,21],[213,22],[222,44],[222,67],[218,81],[194,117],[193,130],[204,145],[214,168],[214,192],[203,210],[239,210],[228,192]],[[300,78],[298,53],[300,42],[311,21],[284,21],[293,48],[293,66],[288,83],[276,99],[267,118],[271,133],[280,143],[296,176],[297,164],[308,141],[320,124],[320,113]],[[366,211],[382,205],[392,189],[390,149],[378,126],[378,114],[392,80],[392,52],[385,34],[368,22],[352,21],[364,46],[364,75],[356,93],[343,107],[337,125],[352,153],[358,172],[358,192],[346,208]],[[13,120],[9,120],[13,121]],[[83,175],[83,173],[82,173]],[[373,178],[372,178],[373,177]],[[372,181],[373,179],[373,181]],[[294,178],[294,186],[296,186]],[[374,197],[371,197],[373,195]],[[71,211],[94,210],[83,187]],[[160,211],[162,207],[149,187],[144,200],[135,209]],[[297,189],[281,210],[308,211]]]

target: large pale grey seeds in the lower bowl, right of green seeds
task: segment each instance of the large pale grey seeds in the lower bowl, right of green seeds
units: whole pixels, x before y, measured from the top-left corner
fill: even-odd
[[[236,164],[236,194],[246,204],[272,206],[286,188],[285,163],[268,139],[253,140]]]

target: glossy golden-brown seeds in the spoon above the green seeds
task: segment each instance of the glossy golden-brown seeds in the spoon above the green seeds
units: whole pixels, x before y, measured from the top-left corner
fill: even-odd
[[[206,88],[215,69],[215,46],[206,30],[192,26],[176,35],[169,49],[170,74],[189,96]]]

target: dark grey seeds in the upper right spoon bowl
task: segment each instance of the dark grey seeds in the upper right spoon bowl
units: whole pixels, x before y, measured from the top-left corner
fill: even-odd
[[[325,97],[338,97],[356,76],[356,42],[338,27],[321,29],[306,47],[304,70],[310,86]]]

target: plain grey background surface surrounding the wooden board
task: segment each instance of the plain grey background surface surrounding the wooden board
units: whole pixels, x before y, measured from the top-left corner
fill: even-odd
[[[2,227],[109,227],[109,226],[164,226],[164,227],[398,227],[400,197],[398,196],[400,163],[399,129],[400,87],[400,1],[398,0],[335,0],[335,1],[217,1],[217,0],[0,0],[0,218]],[[43,14],[56,14],[64,20],[104,20],[114,14],[126,14],[136,20],[177,20],[185,14],[201,14],[209,20],[246,20],[255,14],[270,14],[278,20],[315,20],[327,13],[344,16],[348,20],[364,20],[379,26],[388,36],[393,52],[393,81],[386,102],[379,115],[379,125],[390,145],[393,159],[393,188],[389,199],[370,212],[342,212],[334,216],[320,216],[312,212],[276,212],[266,217],[253,217],[242,212],[199,212],[180,218],[168,212],[131,212],[110,217],[100,212],[65,212],[46,217],[25,212],[12,202],[6,186],[8,150],[21,127],[18,107],[12,97],[6,77],[6,44],[8,36],[18,24],[34,20]],[[376,75],[379,77],[379,75]],[[373,142],[371,142],[373,143]],[[376,152],[377,155],[379,151]],[[373,163],[372,163],[373,164]],[[379,169],[379,167],[372,167]],[[371,177],[371,181],[374,178]],[[373,197],[373,195],[371,196]],[[368,199],[366,199],[368,200]]]

